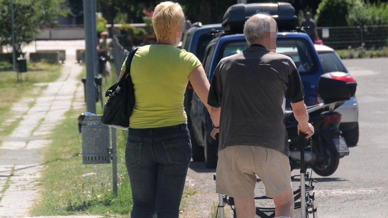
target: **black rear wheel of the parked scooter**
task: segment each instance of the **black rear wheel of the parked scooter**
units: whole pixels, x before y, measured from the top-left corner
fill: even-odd
[[[320,176],[330,176],[340,164],[340,155],[324,139],[319,140],[319,146],[322,146],[324,157],[314,163],[313,170]]]

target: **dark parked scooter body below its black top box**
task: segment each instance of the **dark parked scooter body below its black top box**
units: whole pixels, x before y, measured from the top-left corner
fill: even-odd
[[[338,129],[341,114],[334,111],[345,101],[330,104],[318,104],[307,109],[309,123],[314,126],[312,146],[305,152],[305,163],[311,165],[314,172],[320,176],[332,175],[338,168],[340,158],[349,155],[345,139]],[[288,132],[289,159],[291,170],[300,166],[300,146],[297,142],[298,121],[292,111],[285,112],[286,130]]]

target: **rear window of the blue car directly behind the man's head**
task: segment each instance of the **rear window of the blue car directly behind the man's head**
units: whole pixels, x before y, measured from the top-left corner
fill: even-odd
[[[221,48],[220,61],[223,57],[237,54],[248,47],[245,40],[224,43]],[[293,59],[300,74],[317,73],[315,56],[307,40],[300,38],[277,38],[276,53],[284,54]]]

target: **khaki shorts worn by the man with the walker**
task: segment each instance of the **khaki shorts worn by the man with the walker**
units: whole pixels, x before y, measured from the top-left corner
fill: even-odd
[[[235,198],[255,196],[256,175],[267,197],[292,189],[288,157],[275,149],[235,145],[218,152],[216,192]]]

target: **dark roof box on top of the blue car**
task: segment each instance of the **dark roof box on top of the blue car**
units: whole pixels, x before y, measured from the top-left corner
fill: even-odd
[[[249,17],[266,13],[275,19],[279,31],[294,30],[298,24],[295,9],[290,3],[249,3],[236,4],[228,8],[223,16],[222,26],[225,31],[242,33],[244,23]]]

